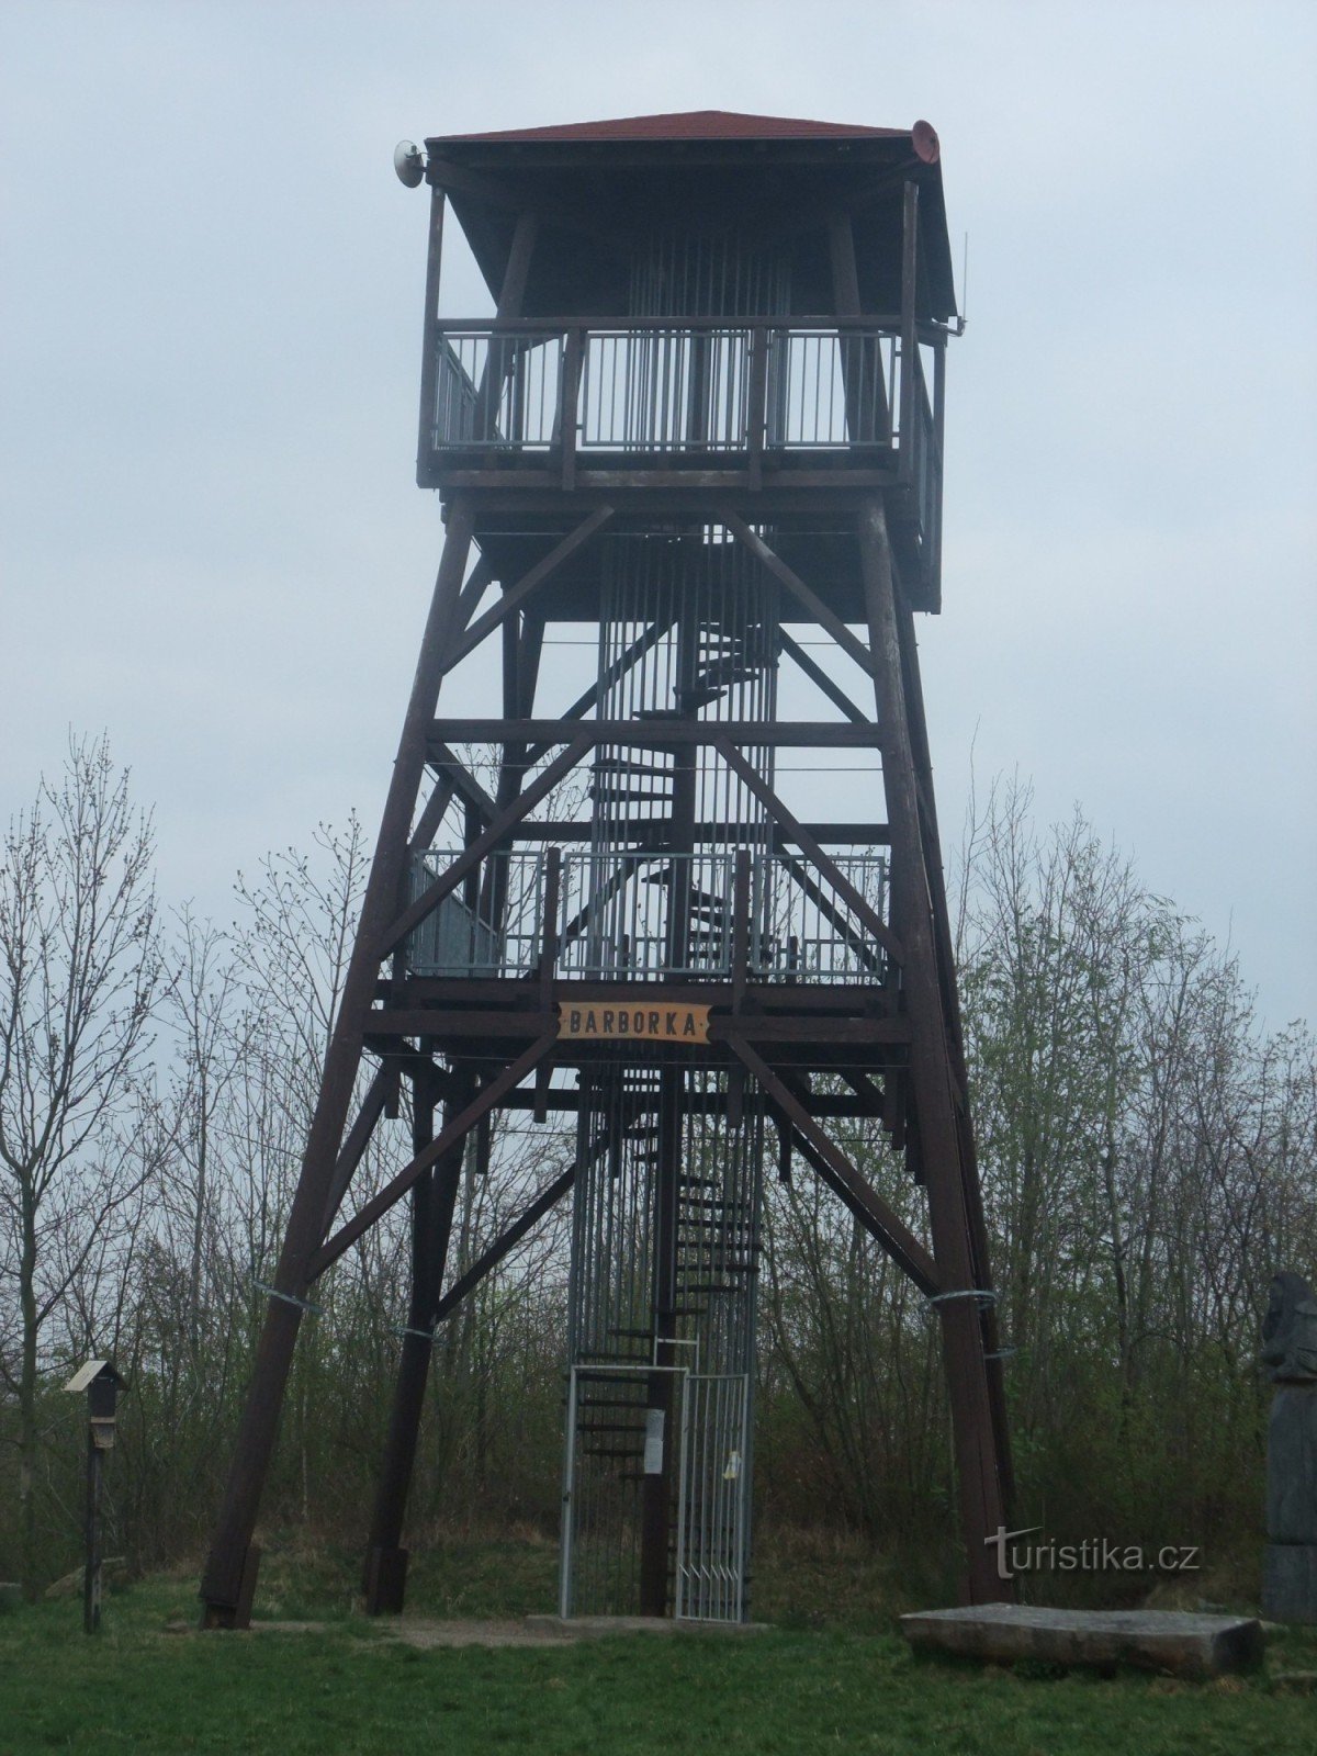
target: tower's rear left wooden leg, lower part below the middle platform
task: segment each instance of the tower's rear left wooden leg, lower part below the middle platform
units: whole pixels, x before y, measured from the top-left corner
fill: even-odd
[[[448,1120],[471,1101],[471,1087],[448,1099]],[[416,1080],[413,1150],[420,1152],[434,1140],[434,1101],[427,1092],[425,1076]],[[400,1547],[402,1521],[407,1510],[411,1475],[416,1465],[416,1438],[425,1407],[425,1384],[430,1375],[435,1310],[448,1261],[448,1240],[453,1229],[462,1178],[465,1141],[444,1154],[439,1162],[413,1185],[411,1206],[411,1303],[407,1333],[402,1336],[399,1378],[393,1391],[393,1408],[385,1440],[385,1457],[379,1468],[376,1505],[371,1517],[371,1540],[365,1552],[365,1610],[367,1616],[399,1614],[407,1584],[407,1551]]]

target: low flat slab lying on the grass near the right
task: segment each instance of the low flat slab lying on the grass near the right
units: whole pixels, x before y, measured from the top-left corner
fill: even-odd
[[[1184,1610],[1052,1610],[1033,1603],[982,1603],[901,1617],[917,1651],[950,1652],[994,1665],[1136,1665],[1175,1677],[1215,1677],[1263,1656],[1252,1617]]]

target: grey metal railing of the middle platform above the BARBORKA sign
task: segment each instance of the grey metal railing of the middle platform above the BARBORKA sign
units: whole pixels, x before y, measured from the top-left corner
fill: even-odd
[[[420,896],[457,853],[413,867]],[[732,850],[571,852],[562,857],[555,973],[592,982],[729,980],[738,954]],[[797,853],[752,853],[745,968],[752,982],[882,982],[883,952],[853,904],[887,918],[887,859],[845,853],[841,880]],[[464,894],[465,892],[465,894]],[[543,952],[546,855],[490,855],[479,883],[453,892],[407,941],[421,976],[518,976]]]

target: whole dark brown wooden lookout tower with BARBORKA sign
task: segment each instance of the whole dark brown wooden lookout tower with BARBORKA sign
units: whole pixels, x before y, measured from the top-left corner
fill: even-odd
[[[430,191],[418,481],[446,537],[207,1623],[249,1610],[307,1292],[407,1194],[369,1607],[402,1603],[435,1322],[569,1199],[564,1614],[743,1617],[762,1191],[792,1175],[941,1322],[966,1589],[997,1598],[1010,1457],[913,625],[941,608],[955,332],[938,137],[713,111],[432,139],[399,174]],[[493,314],[439,314],[450,209]],[[592,653],[576,690],[562,641]],[[439,716],[488,648],[499,711]],[[400,1082],[411,1148],[344,1219]],[[509,1110],[572,1126],[574,1162],[446,1285],[465,1154],[497,1177]],[[838,1143],[866,1119],[927,1241]]]

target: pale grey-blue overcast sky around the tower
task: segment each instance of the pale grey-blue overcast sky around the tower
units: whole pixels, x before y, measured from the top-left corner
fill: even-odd
[[[1310,0],[4,0],[0,818],[107,727],[221,920],[267,848],[374,829],[441,543],[397,139],[924,116],[969,234],[948,841],[975,745],[1317,1017],[1315,90]]]

